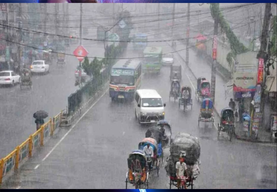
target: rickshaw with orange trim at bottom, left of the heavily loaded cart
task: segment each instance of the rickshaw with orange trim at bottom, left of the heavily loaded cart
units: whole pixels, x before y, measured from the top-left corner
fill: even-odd
[[[127,184],[131,183],[136,189],[140,189],[140,185],[145,185],[148,189],[149,171],[147,167],[147,159],[143,151],[135,150],[129,154],[128,172],[126,173],[126,189]]]

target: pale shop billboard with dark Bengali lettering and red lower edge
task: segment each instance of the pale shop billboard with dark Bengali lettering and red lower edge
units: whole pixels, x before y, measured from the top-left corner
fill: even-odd
[[[236,72],[233,81],[234,92],[254,92],[256,91],[257,73]]]

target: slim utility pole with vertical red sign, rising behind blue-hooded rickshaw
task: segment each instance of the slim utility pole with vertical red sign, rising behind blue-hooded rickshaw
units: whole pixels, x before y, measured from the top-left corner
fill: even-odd
[[[212,63],[212,75],[211,75],[211,89],[210,96],[213,101],[213,105],[215,104],[215,90],[216,90],[216,53],[217,53],[217,34],[218,34],[218,18],[219,12],[216,11],[216,15],[214,18],[214,35],[213,35],[213,63]]]

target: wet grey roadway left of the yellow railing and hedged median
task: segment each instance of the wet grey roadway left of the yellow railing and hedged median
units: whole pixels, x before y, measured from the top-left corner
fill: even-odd
[[[95,44],[95,42],[94,42]],[[72,44],[66,51],[72,54],[77,44]],[[91,46],[91,41],[84,40],[83,46],[89,52],[89,57],[103,57],[103,43]],[[33,113],[38,110],[48,112],[49,118],[56,116],[65,109],[67,97],[75,92],[75,69],[79,61],[74,56],[66,56],[66,66],[50,65],[50,73],[32,76],[33,88],[17,84],[15,87],[0,87],[0,159],[7,156],[17,145],[25,141],[36,131]]]

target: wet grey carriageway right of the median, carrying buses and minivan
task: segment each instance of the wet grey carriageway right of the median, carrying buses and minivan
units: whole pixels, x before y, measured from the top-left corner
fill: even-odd
[[[164,42],[151,45],[163,46],[164,52],[172,51]],[[126,55],[137,56],[132,50]],[[175,54],[175,62],[180,61]],[[186,73],[195,84],[184,63],[180,63],[186,71],[182,85],[191,86]],[[169,73],[170,68],[164,67],[159,76],[144,75],[141,88],[156,89],[162,96],[167,104],[165,119],[172,123],[173,137],[178,132],[187,132],[199,138],[201,166],[194,188],[276,188],[276,145],[235,139],[229,142],[224,134],[217,138],[211,123],[200,123],[198,127],[200,104],[194,97],[192,110],[185,112],[178,110],[177,102],[169,101]],[[61,129],[2,187],[125,188],[127,156],[137,149],[146,130],[147,126],[138,125],[134,118],[134,103],[112,103],[106,93],[74,127]],[[67,131],[68,135],[63,137]],[[169,188],[168,183],[163,167],[159,177],[156,172],[151,173],[149,188]],[[134,187],[129,184],[128,188]]]

